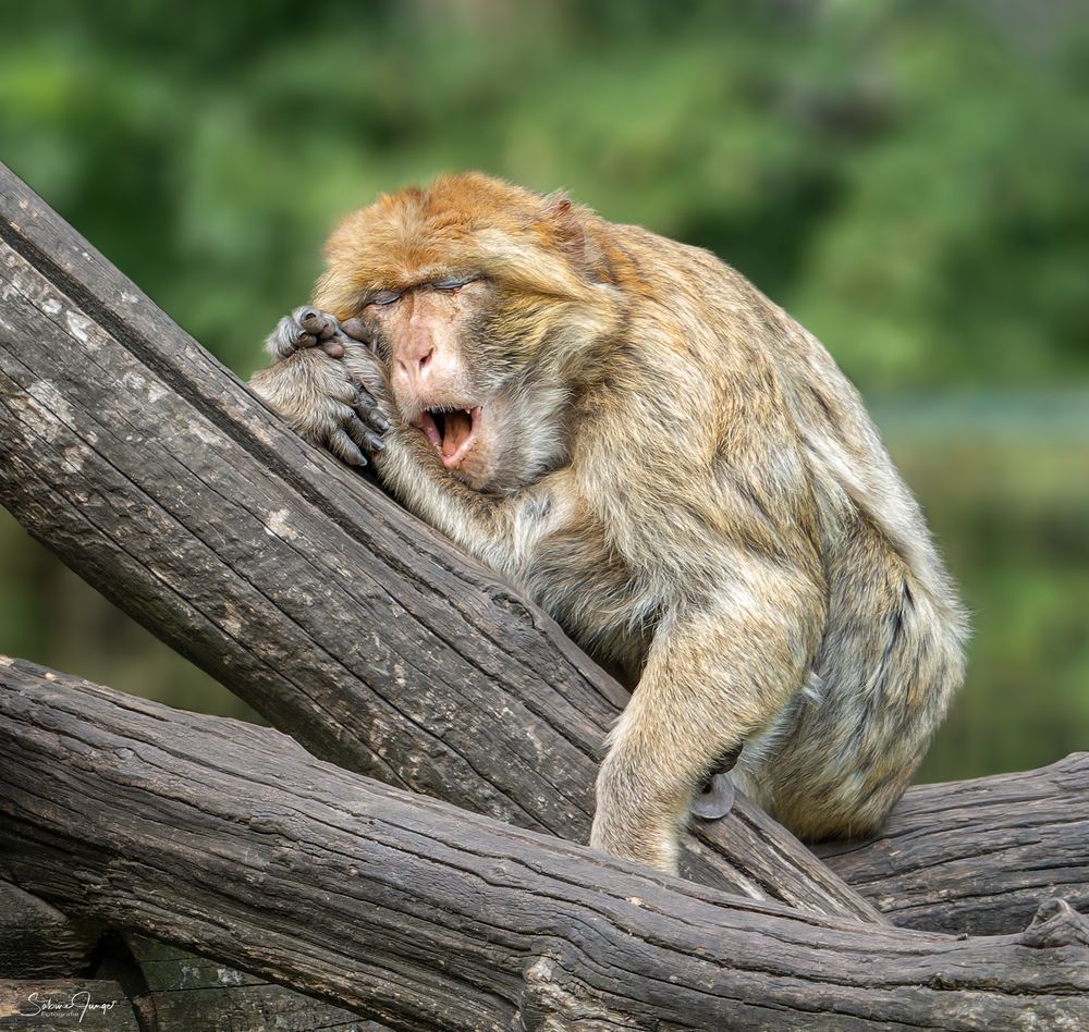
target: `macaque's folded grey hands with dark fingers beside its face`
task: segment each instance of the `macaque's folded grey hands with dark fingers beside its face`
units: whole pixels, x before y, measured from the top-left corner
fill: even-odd
[[[390,428],[383,378],[357,319],[341,325],[304,306],[284,316],[265,342],[274,365],[250,388],[304,440],[350,466],[384,447]]]

